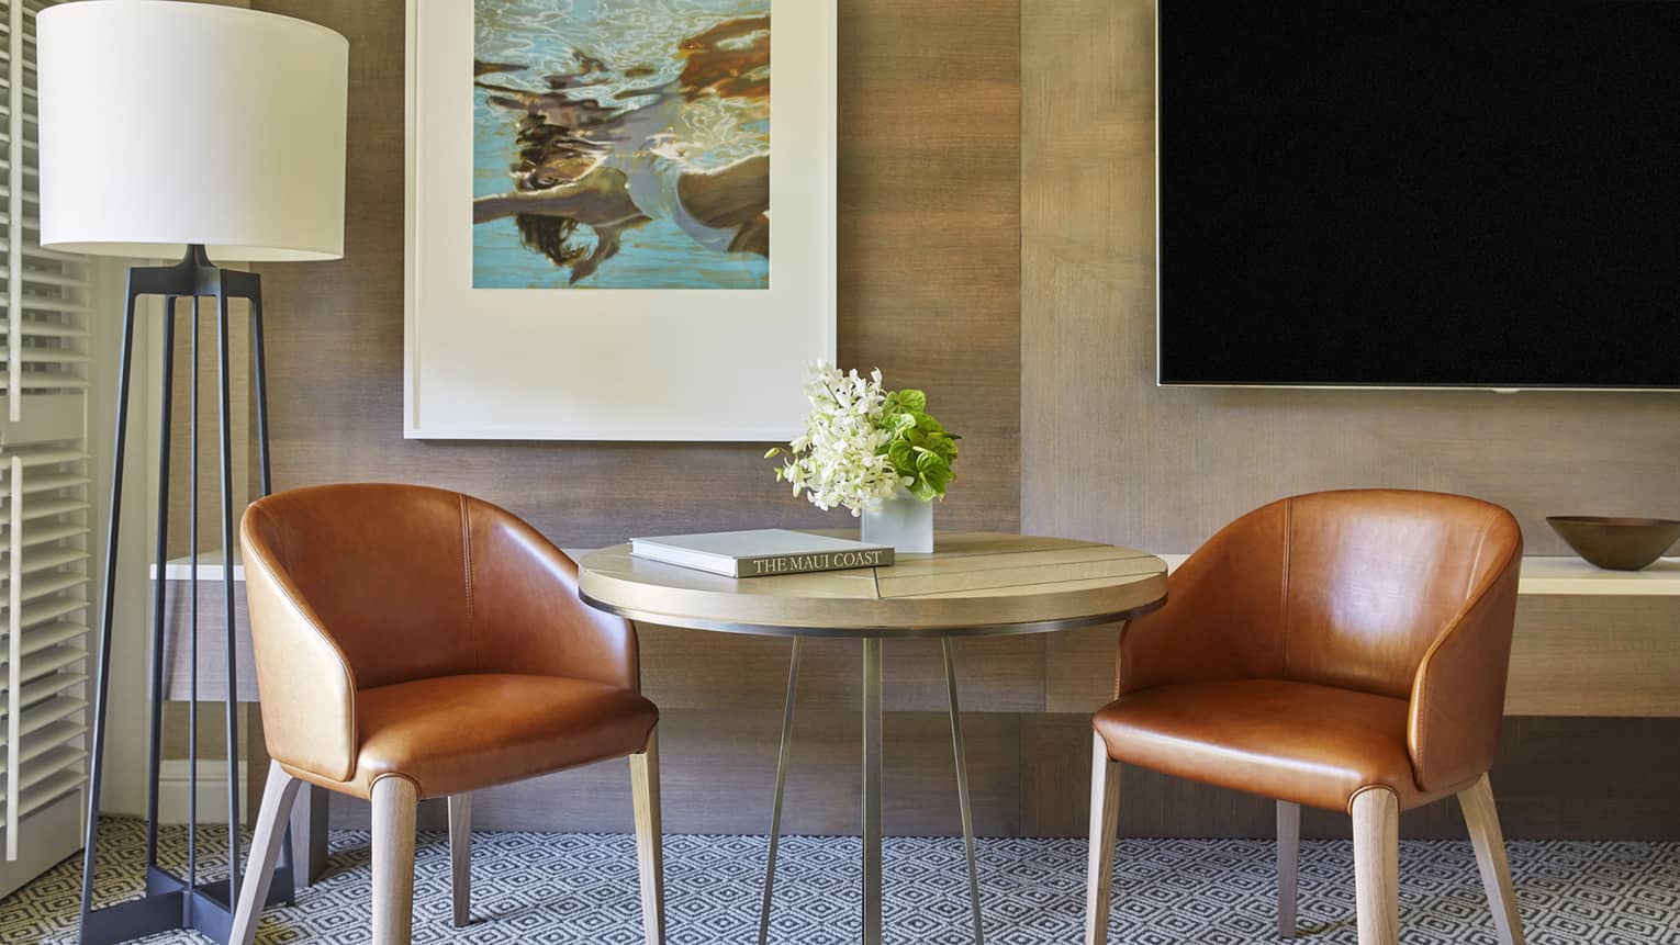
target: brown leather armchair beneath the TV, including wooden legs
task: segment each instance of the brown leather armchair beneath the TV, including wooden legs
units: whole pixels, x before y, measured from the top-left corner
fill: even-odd
[[[1278,933],[1300,804],[1354,821],[1361,945],[1398,940],[1399,811],[1458,796],[1504,945],[1522,942],[1487,769],[1522,530],[1458,495],[1322,492],[1213,535],[1121,636],[1092,744],[1085,942],[1109,922],[1121,762],[1278,799]]]

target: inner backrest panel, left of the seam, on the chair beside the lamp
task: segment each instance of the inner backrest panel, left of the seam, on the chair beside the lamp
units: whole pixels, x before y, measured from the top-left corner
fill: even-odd
[[[469,673],[469,502],[385,483],[282,492],[252,505],[247,554],[331,628],[358,688]]]

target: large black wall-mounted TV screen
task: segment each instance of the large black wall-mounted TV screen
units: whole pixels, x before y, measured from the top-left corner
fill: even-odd
[[[1680,388],[1680,0],[1161,0],[1163,384]]]

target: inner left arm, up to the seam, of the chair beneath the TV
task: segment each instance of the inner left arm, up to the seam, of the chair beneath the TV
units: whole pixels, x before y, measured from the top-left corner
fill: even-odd
[[[1278,502],[1208,539],[1168,577],[1166,606],[1121,631],[1116,695],[1245,680],[1282,666],[1289,509]]]

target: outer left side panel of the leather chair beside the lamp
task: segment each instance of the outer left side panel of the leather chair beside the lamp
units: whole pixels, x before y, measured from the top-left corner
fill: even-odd
[[[274,566],[262,542],[249,527],[242,532],[250,641],[269,757],[329,781],[349,781],[361,745],[356,676],[344,651]]]

